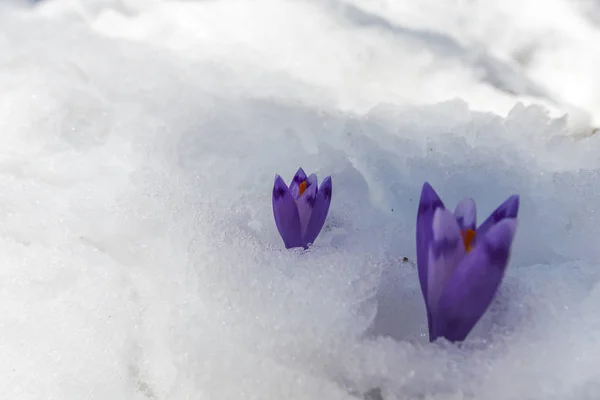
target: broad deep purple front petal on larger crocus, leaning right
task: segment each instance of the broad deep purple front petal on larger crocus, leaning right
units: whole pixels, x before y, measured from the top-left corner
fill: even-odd
[[[516,229],[515,218],[503,219],[460,263],[439,299],[439,336],[462,341],[485,313],[504,277]]]

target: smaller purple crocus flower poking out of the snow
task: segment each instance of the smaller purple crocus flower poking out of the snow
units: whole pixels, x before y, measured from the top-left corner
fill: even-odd
[[[331,177],[317,184],[317,175],[308,178],[298,169],[290,187],[279,175],[273,185],[273,215],[287,249],[308,248],[321,232],[331,204]]]

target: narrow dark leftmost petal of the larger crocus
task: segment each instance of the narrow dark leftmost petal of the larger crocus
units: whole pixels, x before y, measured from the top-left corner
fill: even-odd
[[[421,189],[421,199],[419,200],[419,210],[417,212],[417,265],[419,272],[419,281],[421,282],[421,291],[425,299],[425,305],[429,312],[427,302],[427,259],[429,257],[429,247],[433,241],[433,214],[438,208],[444,208],[444,203],[427,182]]]

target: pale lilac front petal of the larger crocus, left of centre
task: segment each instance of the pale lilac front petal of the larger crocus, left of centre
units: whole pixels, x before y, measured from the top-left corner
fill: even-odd
[[[436,337],[438,301],[446,282],[452,276],[466,251],[454,214],[438,208],[433,215],[433,245],[429,250],[427,300],[432,318],[432,336]]]

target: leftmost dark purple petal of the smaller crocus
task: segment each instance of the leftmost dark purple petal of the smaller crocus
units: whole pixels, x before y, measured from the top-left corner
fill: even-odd
[[[273,185],[273,216],[285,247],[302,247],[298,207],[292,193],[279,175]]]

